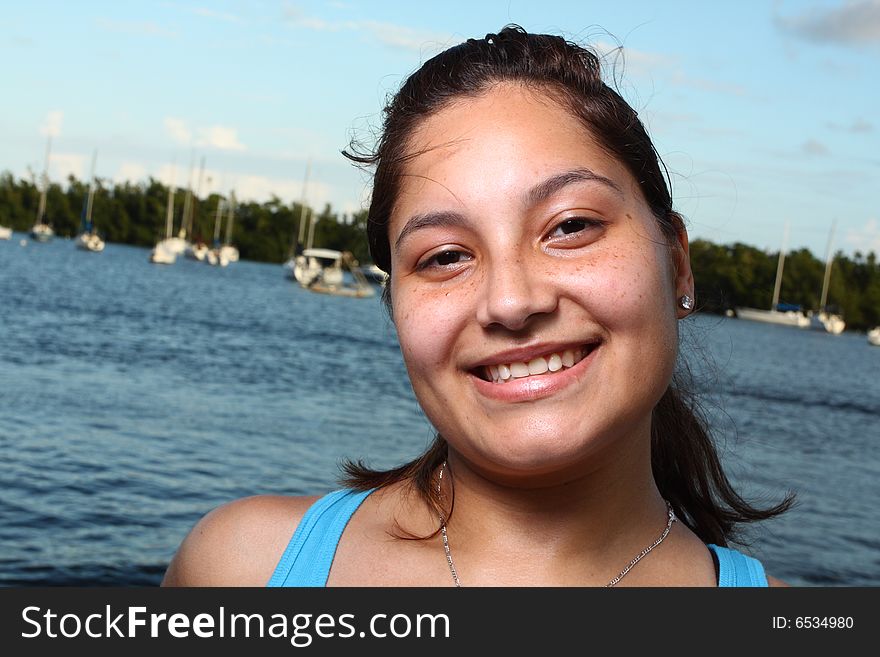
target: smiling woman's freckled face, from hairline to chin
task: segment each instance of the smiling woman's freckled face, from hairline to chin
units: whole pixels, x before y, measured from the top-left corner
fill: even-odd
[[[391,300],[437,430],[511,476],[647,445],[676,299],[693,296],[686,235],[670,244],[626,168],[520,86],[433,115],[411,152],[389,226]]]

